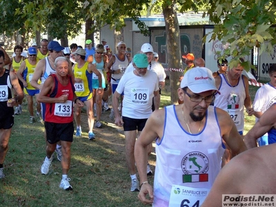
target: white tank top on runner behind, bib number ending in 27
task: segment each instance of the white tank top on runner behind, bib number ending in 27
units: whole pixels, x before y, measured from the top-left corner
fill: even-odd
[[[243,75],[239,77],[237,86],[230,86],[223,74],[221,77],[221,84],[219,92],[221,94],[215,95],[214,106],[221,108],[228,112],[230,117],[235,122],[239,132],[244,131],[244,99],[246,98],[246,90],[244,86]]]

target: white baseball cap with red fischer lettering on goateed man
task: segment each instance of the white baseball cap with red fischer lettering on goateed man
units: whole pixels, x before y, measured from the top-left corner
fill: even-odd
[[[188,70],[180,83],[180,87],[188,87],[194,93],[216,90],[220,94],[215,86],[215,79],[213,78],[212,71],[204,67]]]

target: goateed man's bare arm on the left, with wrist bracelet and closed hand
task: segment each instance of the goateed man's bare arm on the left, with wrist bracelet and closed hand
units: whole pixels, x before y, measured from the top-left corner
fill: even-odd
[[[148,161],[148,145],[155,140],[156,137],[163,137],[165,120],[165,110],[155,110],[148,118],[146,126],[141,132],[139,139],[135,143],[135,162],[139,173],[140,184],[148,181],[146,174],[146,166]],[[146,197],[148,195],[149,197]],[[152,204],[153,202],[153,190],[152,186],[148,183],[144,183],[141,186],[139,195],[140,201],[143,204]]]

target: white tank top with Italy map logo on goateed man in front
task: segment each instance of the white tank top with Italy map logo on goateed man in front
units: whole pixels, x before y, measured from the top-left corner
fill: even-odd
[[[206,124],[199,134],[191,135],[179,124],[175,106],[165,108],[164,136],[157,141],[157,161],[154,182],[153,206],[181,206],[181,201],[188,199],[189,206],[205,199],[221,169],[221,157],[224,152],[221,133],[213,106],[206,113]],[[175,188],[177,185],[178,188]],[[173,189],[175,188],[175,189]],[[183,193],[185,189],[185,192]],[[171,190],[174,193],[171,194]],[[189,191],[192,190],[192,191]],[[190,192],[190,193],[189,193]],[[201,197],[197,192],[206,192]],[[180,200],[174,196],[179,196]]]

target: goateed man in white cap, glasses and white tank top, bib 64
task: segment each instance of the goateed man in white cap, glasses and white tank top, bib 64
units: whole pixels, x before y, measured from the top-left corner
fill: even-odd
[[[152,112],[135,144],[138,197],[143,204],[200,206],[219,173],[222,141],[233,155],[246,150],[228,113],[210,106],[218,90],[209,69],[188,70],[180,87],[177,93],[184,103]],[[155,137],[157,161],[152,190],[146,175],[147,146]]]

